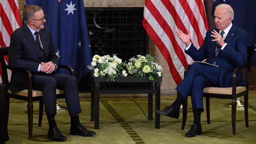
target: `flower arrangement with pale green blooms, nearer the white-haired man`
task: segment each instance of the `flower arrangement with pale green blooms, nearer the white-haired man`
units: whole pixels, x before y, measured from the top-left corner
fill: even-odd
[[[154,57],[148,54],[147,57],[143,55],[137,55],[137,58],[132,57],[126,68],[128,74],[137,77],[148,76],[149,80],[154,80],[154,77],[163,77],[162,67],[158,63],[154,63]]]

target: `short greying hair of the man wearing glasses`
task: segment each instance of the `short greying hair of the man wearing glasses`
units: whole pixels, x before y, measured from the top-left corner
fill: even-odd
[[[28,24],[28,21],[31,17],[33,17],[34,13],[37,11],[40,11],[42,8],[33,4],[29,4],[26,7],[24,7],[23,11],[23,20],[25,24]]]

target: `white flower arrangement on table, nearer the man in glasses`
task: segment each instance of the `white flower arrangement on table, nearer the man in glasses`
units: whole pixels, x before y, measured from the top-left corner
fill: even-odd
[[[126,63],[122,63],[122,59],[119,59],[116,55],[110,57],[109,55],[99,56],[94,55],[91,65],[87,66],[90,70],[93,70],[94,77],[107,77],[109,81],[115,81],[118,76],[127,76],[124,67]]]

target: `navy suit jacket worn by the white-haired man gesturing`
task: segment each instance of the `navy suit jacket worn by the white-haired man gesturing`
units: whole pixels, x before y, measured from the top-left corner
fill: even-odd
[[[219,85],[221,87],[231,87],[233,69],[247,63],[248,35],[247,32],[233,24],[224,40],[227,45],[223,50],[220,50],[216,57],[216,41],[212,41],[214,38],[211,37],[211,31],[213,30],[219,32],[217,28],[207,31],[204,43],[199,50],[191,44],[190,48],[187,51],[185,50],[185,52],[194,61],[203,61],[204,59],[207,59],[207,63],[211,64],[216,61],[216,64],[220,68]],[[238,72],[236,80],[237,85],[246,85],[246,82],[242,79],[241,71]]]

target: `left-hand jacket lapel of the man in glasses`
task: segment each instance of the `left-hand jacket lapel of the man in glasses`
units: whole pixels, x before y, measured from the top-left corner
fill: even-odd
[[[33,37],[33,34],[31,33],[30,29],[28,28],[28,26],[26,24],[24,24],[22,27],[24,30],[24,36],[26,37],[28,43],[35,50],[35,52],[41,57],[38,46],[35,42],[35,39]]]

